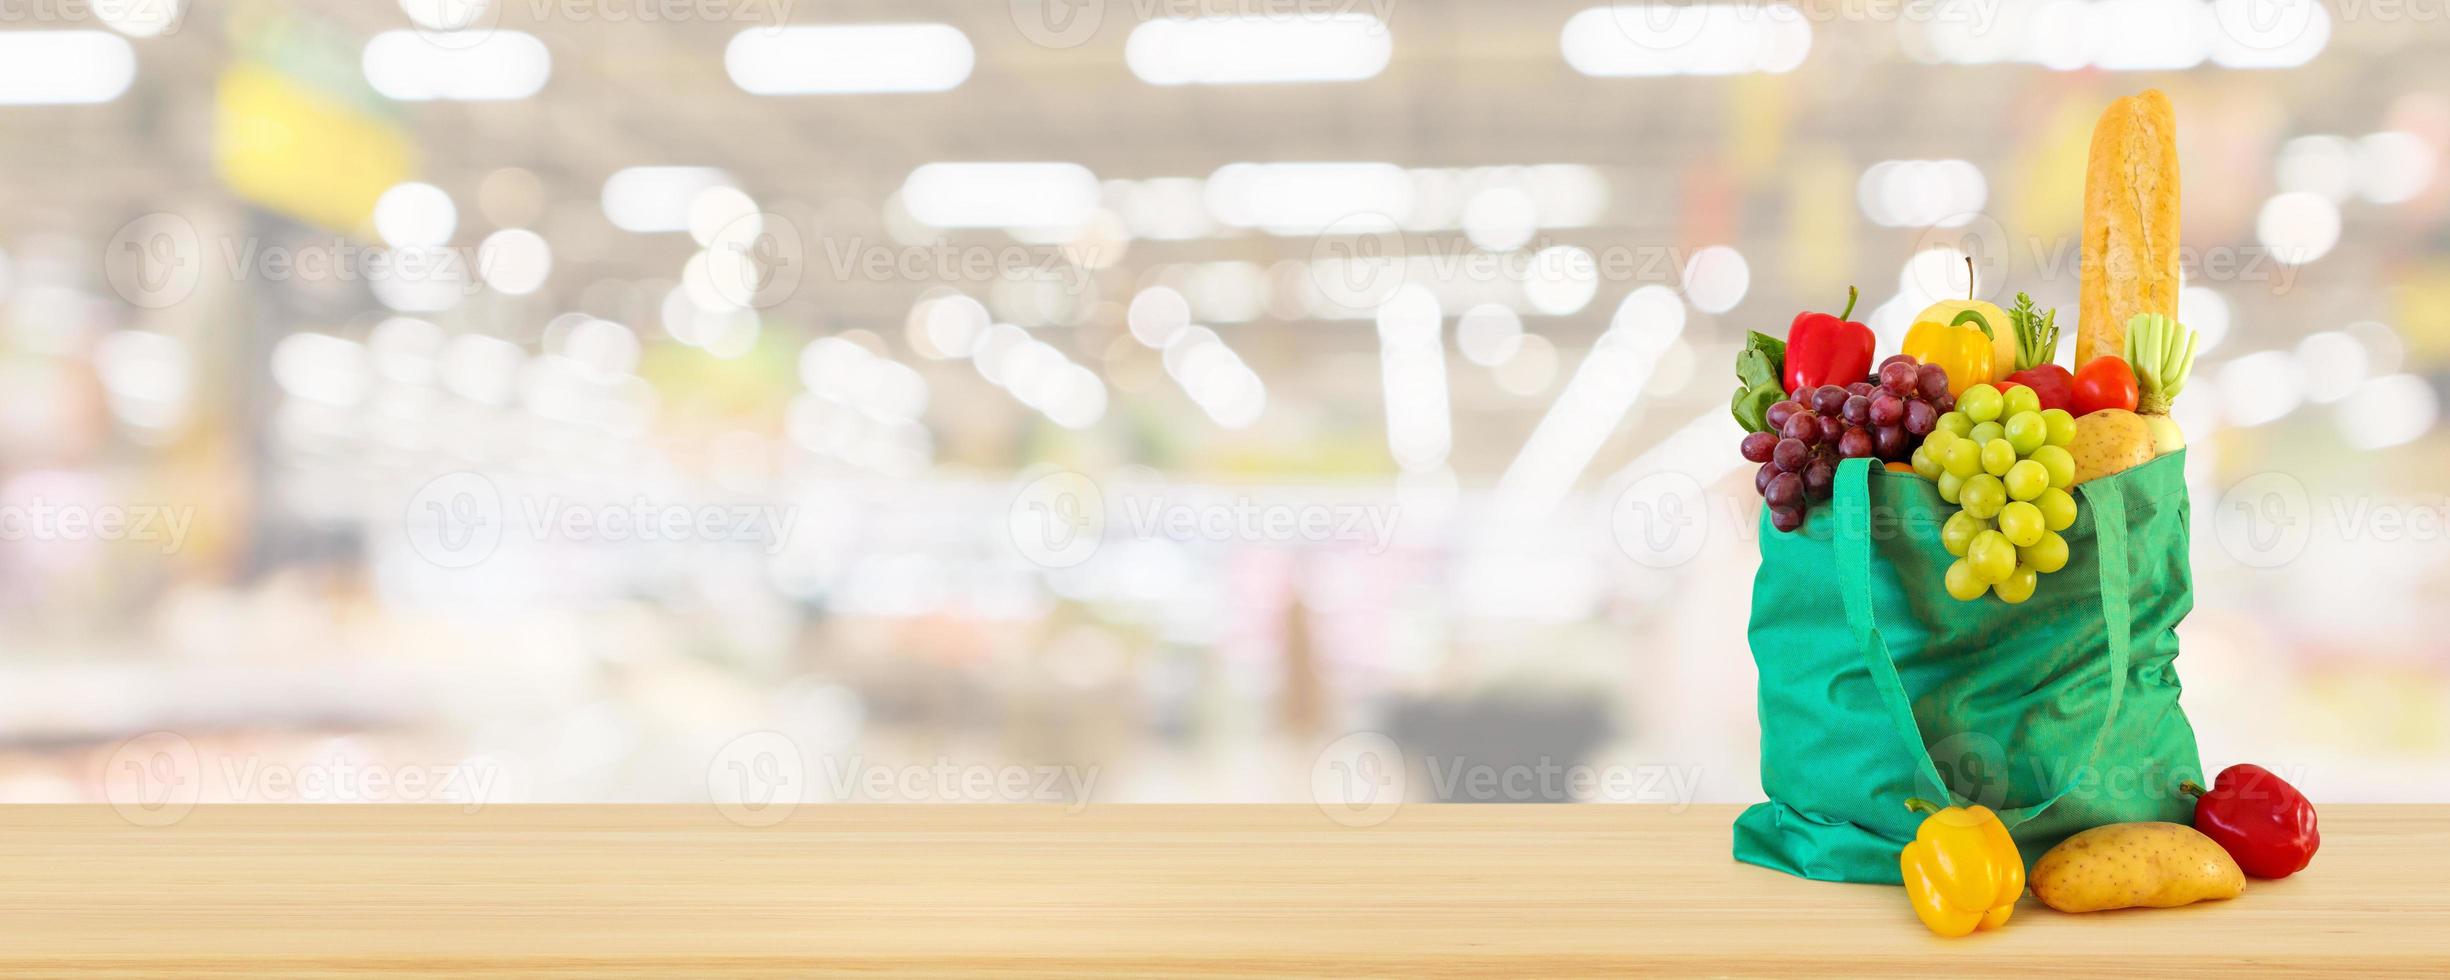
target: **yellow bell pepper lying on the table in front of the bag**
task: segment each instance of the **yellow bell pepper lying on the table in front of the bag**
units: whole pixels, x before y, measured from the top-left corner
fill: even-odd
[[[2024,897],[2024,855],[1989,806],[1936,809],[1909,799],[1906,809],[1936,811],[1896,855],[1906,877],[1906,902],[1923,926],[1940,936],[1999,929]]]

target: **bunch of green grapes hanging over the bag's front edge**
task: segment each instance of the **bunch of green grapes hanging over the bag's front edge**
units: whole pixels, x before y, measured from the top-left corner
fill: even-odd
[[[1948,595],[2024,603],[2041,576],[2068,566],[2058,532],[2075,524],[2073,441],[2075,417],[2046,412],[2031,387],[1975,385],[1958,394],[1955,412],[1913,451],[1913,470],[1960,507],[1940,527],[1940,544],[1958,559]]]

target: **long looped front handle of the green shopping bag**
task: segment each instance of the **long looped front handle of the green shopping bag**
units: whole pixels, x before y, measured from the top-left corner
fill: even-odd
[[[1879,701],[1889,708],[1889,723],[1896,728],[1896,735],[1913,752],[1923,782],[1938,794],[1936,799],[1955,801],[1948,782],[1940,779],[1940,767],[1931,762],[1931,747],[1923,745],[1923,728],[1913,720],[1913,703],[1906,698],[1906,686],[1896,679],[1896,662],[1889,659],[1889,642],[1879,637],[1879,625],[1872,617],[1872,461],[1840,461],[1835,490],[1838,595],[1845,600],[1845,622],[1855,630],[1855,647],[1862,652],[1864,669],[1872,671],[1872,688],[1879,691]],[[2078,483],[2075,490],[2092,502],[2102,625],[2109,630],[2109,710],[2102,713],[2102,728],[2092,733],[2092,752],[2082,767],[2070,769],[2068,784],[2058,786],[2041,804],[1999,811],[1999,823],[2009,828],[2048,811],[2051,804],[2068,796],[2075,782],[2100,762],[2102,745],[2109,742],[2109,728],[2119,718],[2119,701],[2127,693],[2129,644],[2134,639],[2134,615],[2127,595],[2127,495],[2119,490],[2119,480],[2087,480]]]

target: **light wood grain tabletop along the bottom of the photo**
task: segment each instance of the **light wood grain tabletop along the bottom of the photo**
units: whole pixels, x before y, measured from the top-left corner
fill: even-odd
[[[5,975],[2450,970],[2450,806],[2330,806],[2234,902],[1943,941],[1727,858],[1735,806],[0,809]]]

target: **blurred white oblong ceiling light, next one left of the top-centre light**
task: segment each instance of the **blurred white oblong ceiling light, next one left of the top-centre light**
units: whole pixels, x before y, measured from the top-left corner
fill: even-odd
[[[953,24],[750,27],[723,49],[723,71],[752,96],[931,93],[975,64]]]

